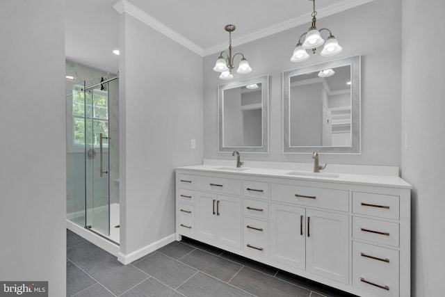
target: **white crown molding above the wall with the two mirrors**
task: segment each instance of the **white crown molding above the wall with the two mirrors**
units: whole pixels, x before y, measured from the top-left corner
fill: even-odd
[[[329,15],[334,15],[336,13],[341,13],[342,11],[348,10],[350,8],[354,8],[356,6],[361,6],[365,3],[372,2],[374,0],[343,0],[339,3],[332,4],[325,8],[317,9],[317,19],[321,19],[323,17],[327,17]],[[248,35],[243,35],[238,38],[232,39],[232,43],[236,45],[243,45],[248,42],[252,42],[254,40],[258,40],[264,38],[269,35],[273,35],[275,33],[280,33],[282,31],[286,31],[288,29],[295,28],[296,26],[300,26],[303,24],[307,24],[310,26],[311,17],[310,15],[304,15],[295,17],[293,19],[289,19],[288,21],[275,24],[273,26],[269,26],[265,29],[261,29],[254,33],[250,33]],[[227,43],[222,43],[220,45],[215,45],[213,47],[207,47],[204,49],[204,56],[209,56],[211,54],[219,53],[227,48]]]

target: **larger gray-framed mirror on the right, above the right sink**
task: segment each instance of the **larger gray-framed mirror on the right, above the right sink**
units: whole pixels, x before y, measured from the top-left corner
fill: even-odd
[[[284,153],[360,154],[360,56],[283,72]]]

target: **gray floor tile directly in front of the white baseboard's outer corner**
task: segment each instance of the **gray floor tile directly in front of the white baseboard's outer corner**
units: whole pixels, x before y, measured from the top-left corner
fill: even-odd
[[[149,278],[146,273],[132,265],[121,264],[117,259],[95,264],[87,268],[86,272],[116,295],[128,291]]]

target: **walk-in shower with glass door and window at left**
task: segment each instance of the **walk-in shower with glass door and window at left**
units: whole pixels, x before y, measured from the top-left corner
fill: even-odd
[[[95,78],[67,79],[67,226],[118,245],[118,77],[68,66]]]

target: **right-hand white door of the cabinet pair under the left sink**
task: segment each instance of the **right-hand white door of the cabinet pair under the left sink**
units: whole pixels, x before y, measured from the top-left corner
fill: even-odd
[[[241,248],[241,198],[218,195],[218,241],[227,246]]]

